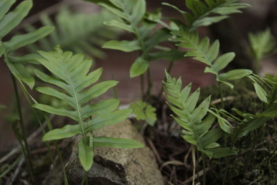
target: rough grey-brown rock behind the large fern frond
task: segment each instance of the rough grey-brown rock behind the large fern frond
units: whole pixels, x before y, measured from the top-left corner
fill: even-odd
[[[130,121],[101,128],[94,136],[113,136],[143,141]],[[78,140],[75,138],[71,157],[66,163],[69,184],[80,184],[84,170],[78,159]],[[89,184],[163,184],[163,178],[152,151],[145,146],[139,149],[93,148],[94,163],[88,173]]]

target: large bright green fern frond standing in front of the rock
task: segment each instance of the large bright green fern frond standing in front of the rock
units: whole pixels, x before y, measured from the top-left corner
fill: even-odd
[[[131,109],[116,110],[119,100],[102,100],[98,103],[89,102],[105,93],[118,82],[114,80],[99,82],[102,69],[89,72],[92,60],[84,58],[82,54],[73,55],[70,51],[62,51],[59,46],[55,51],[39,51],[42,58],[38,62],[53,75],[49,76],[42,71],[35,71],[36,76],[53,87],[37,87],[42,94],[54,96],[64,100],[71,109],[57,108],[50,105],[35,104],[33,107],[50,114],[67,116],[77,125],[65,125],[47,132],[42,140],[51,141],[64,139],[76,134],[81,134],[82,139],[78,143],[79,159],[84,170],[88,171],[93,164],[93,146],[109,146],[117,148],[141,148],[143,144],[130,139],[118,139],[111,137],[93,137],[92,131],[108,125],[113,125],[125,120],[132,112]]]

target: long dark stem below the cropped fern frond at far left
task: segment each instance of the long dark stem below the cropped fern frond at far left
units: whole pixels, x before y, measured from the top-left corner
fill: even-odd
[[[22,134],[22,137],[23,137],[25,150],[26,150],[26,156],[25,156],[26,157],[26,162],[27,162],[27,164],[30,168],[30,177],[34,182],[35,181],[35,176],[34,176],[33,164],[32,164],[32,161],[30,160],[30,150],[29,150],[27,139],[26,139],[25,125],[24,125],[22,109],[21,109],[21,102],[20,102],[20,98],[19,98],[19,91],[18,91],[18,88],[17,88],[17,80],[12,75],[12,73],[10,73],[10,76],[12,78],[12,85],[13,85],[13,88],[15,90],[15,98],[17,100],[17,112],[18,112],[18,115],[19,115],[19,125],[21,127],[21,134]]]

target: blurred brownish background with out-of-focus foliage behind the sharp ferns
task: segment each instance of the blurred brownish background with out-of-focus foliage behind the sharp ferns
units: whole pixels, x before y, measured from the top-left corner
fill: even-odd
[[[253,68],[253,61],[249,56],[248,35],[250,32],[256,33],[270,28],[271,33],[277,35],[277,1],[244,1],[250,3],[251,7],[243,10],[243,14],[233,15],[230,19],[226,19],[209,28],[199,28],[200,35],[208,35],[212,40],[220,39],[222,53],[229,51],[236,53],[235,61],[229,68]],[[17,4],[19,2],[17,1]],[[163,17],[180,17],[177,11],[162,6],[161,2],[159,0],[147,0],[148,11],[162,8]],[[184,9],[184,1],[168,0],[168,2]],[[44,24],[53,24],[56,27],[55,33],[57,34],[28,46],[20,51],[21,53],[24,54],[36,50],[49,51],[57,44],[60,44],[64,50],[84,53],[93,58],[94,69],[103,67],[103,80],[118,80],[120,82],[116,87],[116,92],[122,104],[127,104],[140,98],[139,78],[129,78],[129,68],[139,53],[123,53],[121,51],[101,49],[101,45],[109,39],[132,39],[132,35],[102,24],[102,21],[111,19],[113,15],[102,11],[100,7],[93,5],[93,3],[81,0],[33,0],[33,3],[33,9],[27,19],[13,33],[25,33]],[[150,64],[154,80],[154,94],[159,93],[161,81],[164,78],[163,71],[168,67],[168,63],[168,61],[159,60]],[[260,73],[276,73],[276,64],[274,56],[266,58],[262,61]],[[185,84],[193,82],[194,87],[213,85],[214,77],[203,73],[204,68],[204,64],[186,58],[175,63],[172,74],[175,77],[182,76]],[[13,115],[16,113],[16,109],[12,82],[6,64],[3,61],[0,62],[0,84],[0,105],[6,106],[6,108],[1,110],[0,118],[0,151],[3,151],[8,150],[12,143],[15,142],[10,122],[16,116]],[[111,97],[113,92],[110,91],[105,96]],[[46,97],[39,98],[47,101]],[[24,117],[26,118],[26,123],[31,123],[28,125],[28,134],[30,134],[38,127],[38,123],[32,122],[28,112],[28,105],[26,105]]]

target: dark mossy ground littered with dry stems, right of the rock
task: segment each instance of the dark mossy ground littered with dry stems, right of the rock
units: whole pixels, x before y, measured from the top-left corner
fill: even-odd
[[[240,109],[242,112],[256,114],[265,109],[263,103],[257,98],[249,80],[235,82],[237,89],[229,89],[222,86],[224,97],[232,97],[224,101],[224,108],[232,112],[232,108]],[[202,89],[201,100],[209,95],[216,100],[215,107],[220,108],[220,93],[218,87],[211,86]],[[234,113],[234,112],[233,112]],[[168,184],[186,184],[193,175],[193,164],[189,152],[190,145],[186,143],[179,133],[181,128],[172,121],[168,109],[163,105],[159,109],[159,121],[155,128],[148,128],[146,136],[152,139],[158,155],[161,173],[167,177]],[[277,130],[276,121],[272,120],[254,130],[247,136],[242,137],[235,144],[238,155],[231,156],[229,171],[226,175],[226,184],[277,184]],[[222,146],[224,142],[220,141]],[[228,146],[227,142],[227,146]],[[198,172],[202,170],[202,158],[198,157]],[[170,161],[170,162],[168,162]],[[180,161],[178,163],[177,161]],[[165,166],[165,164],[168,164]],[[208,159],[208,171],[206,184],[222,184],[226,170],[226,159]],[[201,175],[201,173],[200,173]],[[202,182],[202,176],[196,180]],[[190,182],[191,183],[191,182]]]

